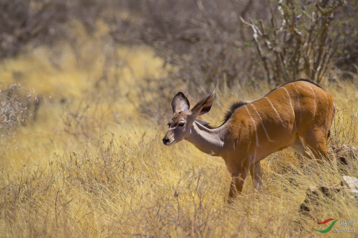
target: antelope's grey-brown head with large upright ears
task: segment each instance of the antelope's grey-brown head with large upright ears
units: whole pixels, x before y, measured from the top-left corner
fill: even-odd
[[[168,131],[163,138],[164,145],[172,146],[190,135],[195,119],[210,111],[214,94],[215,91],[189,110],[188,98],[182,92],[176,93],[171,101],[173,117],[169,120]]]

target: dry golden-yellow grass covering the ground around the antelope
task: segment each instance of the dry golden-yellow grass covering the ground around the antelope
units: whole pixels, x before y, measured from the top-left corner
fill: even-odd
[[[288,149],[262,161],[263,195],[247,178],[237,202],[227,205],[231,178],[223,160],[185,141],[163,146],[167,121],[158,126],[135,110],[136,84],[165,74],[163,62],[146,47],[121,47],[116,54],[126,65],[109,67],[108,80],[100,81],[106,61],[96,44],[89,41],[79,52],[90,58],[86,63],[76,62],[63,43],[0,65],[3,83],[34,88],[45,101],[37,121],[1,137],[2,237],[319,237],[312,228],[325,227],[318,221],[358,221],[358,202],[344,195],[321,201],[311,217],[299,214],[309,186],[340,182],[344,174],[358,177],[358,164],[344,174],[327,163],[311,171],[307,159]],[[62,56],[51,64],[48,59],[60,49]],[[111,80],[116,74],[120,80]],[[357,88],[338,82],[323,86],[345,108],[337,113],[329,143],[355,146]],[[238,95],[251,100],[269,90],[262,84]],[[238,99],[228,89],[217,89],[216,96],[205,115],[214,125],[222,108]]]

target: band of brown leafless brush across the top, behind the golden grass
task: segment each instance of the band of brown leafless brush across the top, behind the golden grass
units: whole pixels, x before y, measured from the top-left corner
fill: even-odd
[[[301,77],[357,84],[357,12],[356,0],[1,0],[0,57],[16,56],[29,44],[53,49],[66,40],[78,64],[91,67],[78,49],[78,27],[93,39],[106,31],[96,38],[106,46],[100,83],[110,67],[125,65],[113,53],[118,48],[149,46],[164,68],[170,66],[159,82],[148,76],[140,85],[147,103],[142,110],[153,113],[164,105],[144,95],[157,88],[169,100],[178,87],[202,95],[213,86],[277,86]],[[50,59],[54,66],[61,54]]]

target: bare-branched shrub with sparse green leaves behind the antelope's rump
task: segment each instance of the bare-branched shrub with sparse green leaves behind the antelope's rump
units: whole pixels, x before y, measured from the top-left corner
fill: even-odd
[[[271,20],[249,23],[241,18],[253,31],[269,82],[305,76],[320,83],[327,70],[348,53],[347,46],[355,44],[358,12],[353,2],[344,7],[342,1],[314,5],[279,0],[269,5]]]

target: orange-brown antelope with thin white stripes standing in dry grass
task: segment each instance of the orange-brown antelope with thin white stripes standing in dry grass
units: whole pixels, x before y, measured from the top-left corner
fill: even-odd
[[[209,112],[214,94],[189,110],[187,97],[178,92],[171,101],[173,117],[163,143],[172,146],[184,139],[204,153],[222,157],[232,177],[228,203],[241,193],[248,171],[254,188],[262,193],[260,161],[271,153],[290,146],[307,158],[330,160],[326,141],[335,102],[313,81],[294,80],[256,100],[234,103],[218,127],[197,119]]]

